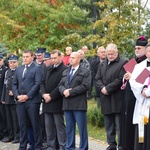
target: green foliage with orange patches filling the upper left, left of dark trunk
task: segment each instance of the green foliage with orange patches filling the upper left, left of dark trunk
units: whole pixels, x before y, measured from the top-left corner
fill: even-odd
[[[1,24],[3,29],[0,28],[0,33],[4,35],[1,41],[12,51],[19,48],[34,50],[38,46],[47,47],[48,50],[64,49],[68,43],[79,47],[79,41],[75,41],[72,35],[85,31],[81,22],[85,22],[87,12],[72,2],[61,2],[54,6],[42,0],[18,0],[15,3],[0,2],[0,6],[3,12],[0,19],[5,19]],[[11,23],[6,24],[8,21]],[[69,35],[67,39],[65,36]]]

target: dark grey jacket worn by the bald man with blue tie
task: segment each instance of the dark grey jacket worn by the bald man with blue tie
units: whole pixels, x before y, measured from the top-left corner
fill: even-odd
[[[91,73],[87,68],[79,67],[68,84],[70,68],[63,72],[59,91],[63,95],[65,89],[71,88],[70,96],[63,97],[63,110],[87,110],[86,93],[90,88]]]

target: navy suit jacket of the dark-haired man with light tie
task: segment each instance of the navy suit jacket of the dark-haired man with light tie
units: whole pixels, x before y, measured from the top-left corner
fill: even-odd
[[[42,70],[39,65],[32,62],[26,76],[22,78],[24,67],[22,65],[16,69],[12,85],[14,97],[17,100],[18,95],[27,95],[29,97],[27,103],[40,103],[41,94],[39,90],[43,75]]]

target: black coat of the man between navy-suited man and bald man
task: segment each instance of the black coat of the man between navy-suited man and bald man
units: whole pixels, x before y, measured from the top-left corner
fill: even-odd
[[[58,84],[61,80],[62,72],[67,67],[63,63],[56,68],[49,66],[46,68],[41,85],[41,94],[49,93],[52,100],[49,103],[43,103],[43,112],[61,113],[63,97],[58,90]]]

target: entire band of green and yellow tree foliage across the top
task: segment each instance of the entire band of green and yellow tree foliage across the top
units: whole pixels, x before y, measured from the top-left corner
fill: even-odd
[[[113,42],[123,56],[131,57],[145,16],[144,9],[130,0],[5,0],[0,1],[0,41],[9,52],[36,47],[63,51],[66,46],[76,51],[88,45],[92,55],[93,43]]]

